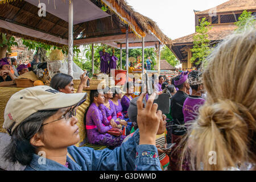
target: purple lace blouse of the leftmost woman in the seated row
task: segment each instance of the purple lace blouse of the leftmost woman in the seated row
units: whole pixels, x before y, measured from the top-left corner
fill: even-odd
[[[103,121],[102,113],[96,104],[90,105],[87,114],[86,114],[86,126],[97,126],[94,129],[89,129],[87,131],[88,140],[90,143],[96,143],[99,140],[102,140],[105,136],[104,133],[112,129],[112,126],[109,125],[109,121]],[[103,126],[102,123],[105,125]]]

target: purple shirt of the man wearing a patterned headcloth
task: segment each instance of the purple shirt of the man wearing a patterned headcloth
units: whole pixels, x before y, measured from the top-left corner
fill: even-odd
[[[184,122],[195,120],[199,111],[199,107],[203,105],[204,102],[205,100],[200,96],[189,95],[188,98],[186,98],[182,108]]]

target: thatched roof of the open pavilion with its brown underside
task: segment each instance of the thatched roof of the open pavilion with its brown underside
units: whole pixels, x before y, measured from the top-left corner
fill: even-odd
[[[162,44],[172,44],[171,40],[163,34],[153,20],[134,11],[131,6],[127,5],[125,0],[90,1],[100,9],[103,5],[108,6],[106,13],[110,16],[75,24],[73,26],[74,45],[76,45],[78,40],[81,44],[83,39],[102,37],[108,37],[109,40],[113,41],[112,36],[125,35],[126,25],[129,26],[129,32],[134,33],[138,38],[139,36],[146,36],[152,33]],[[0,1],[0,20],[9,23],[5,27],[0,26],[1,31],[59,47],[67,45],[68,22],[48,12],[46,17],[39,17],[38,10],[38,7],[24,0]],[[8,28],[10,24],[30,28],[35,33],[42,32],[43,34],[55,36],[55,38],[60,40],[56,42],[51,41],[53,39],[46,40],[45,36],[35,38],[33,35],[24,35],[23,32]]]

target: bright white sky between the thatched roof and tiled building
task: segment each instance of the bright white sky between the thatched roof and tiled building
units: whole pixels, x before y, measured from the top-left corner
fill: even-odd
[[[126,0],[135,11],[151,18],[171,39],[195,32],[193,10],[208,10],[228,0]]]

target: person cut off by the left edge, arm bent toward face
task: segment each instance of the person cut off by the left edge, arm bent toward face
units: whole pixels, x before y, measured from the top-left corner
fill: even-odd
[[[11,73],[11,66],[7,58],[0,60],[0,86],[14,85],[15,76]]]

